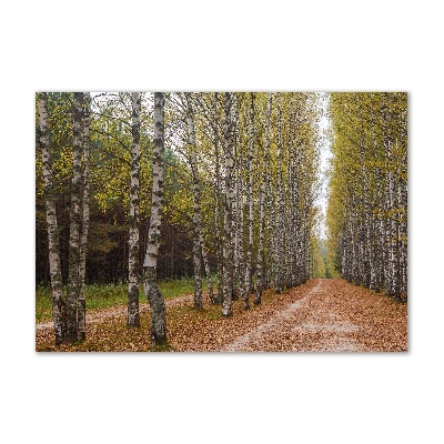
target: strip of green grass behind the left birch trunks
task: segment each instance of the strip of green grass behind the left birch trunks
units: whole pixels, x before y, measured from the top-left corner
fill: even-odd
[[[202,282],[203,290],[206,283]],[[164,297],[175,297],[194,292],[194,279],[183,278],[178,280],[165,280],[159,283]],[[67,289],[64,289],[64,294]],[[92,284],[85,286],[87,311],[107,309],[124,305],[128,300],[128,284]],[[140,286],[140,301],[147,301],[143,285]],[[36,290],[36,322],[50,321],[52,319],[51,289],[38,286]]]

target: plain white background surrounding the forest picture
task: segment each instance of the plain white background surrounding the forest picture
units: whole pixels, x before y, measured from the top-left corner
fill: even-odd
[[[4,2],[4,443],[443,442],[438,1]],[[401,354],[37,354],[34,93],[408,91],[410,320]]]

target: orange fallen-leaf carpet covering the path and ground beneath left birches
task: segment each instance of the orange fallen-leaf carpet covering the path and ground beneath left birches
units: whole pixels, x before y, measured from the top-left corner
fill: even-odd
[[[340,279],[311,280],[281,294],[270,291],[262,305],[252,306],[249,311],[242,309],[242,301],[236,301],[230,319],[205,315],[205,310],[210,310],[208,297],[202,314],[192,309],[192,295],[165,302],[167,319],[170,320],[169,343],[175,352],[407,350],[406,304]],[[147,303],[141,304],[141,312],[144,313],[142,317],[150,315]],[[112,341],[103,339],[103,332],[114,324],[121,325],[120,334],[125,334],[124,306],[89,314],[87,337],[92,336],[94,344],[108,341],[104,351],[127,350],[113,349]],[[97,331],[101,332],[99,339],[94,337]],[[128,334],[134,335],[133,330]],[[37,349],[44,339],[51,341],[51,335],[52,323],[37,324]],[[149,336],[148,325],[147,333],[140,332],[139,335]],[[131,344],[133,351],[147,351],[143,344],[138,345],[135,336]],[[88,350],[88,344],[83,346]]]

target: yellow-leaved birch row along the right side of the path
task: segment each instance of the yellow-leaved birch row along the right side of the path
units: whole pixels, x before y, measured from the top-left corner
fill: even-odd
[[[332,93],[327,209],[335,269],[407,299],[407,94]]]

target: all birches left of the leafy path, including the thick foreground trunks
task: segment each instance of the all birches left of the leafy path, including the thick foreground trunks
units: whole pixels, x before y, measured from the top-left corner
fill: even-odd
[[[73,93],[70,100],[68,168],[54,152],[60,125],[50,128],[48,94],[38,94],[57,343],[84,340],[85,258],[94,243],[90,203],[107,211],[110,202],[124,202],[127,323],[140,325],[143,283],[152,345],[167,342],[157,272],[164,213],[186,228],[196,310],[206,296],[203,279],[209,301],[221,304],[224,316],[232,315],[238,299],[248,310],[251,302],[261,303],[266,289],[280,293],[310,279],[319,218],[315,93]],[[51,154],[71,181],[65,295]]]

